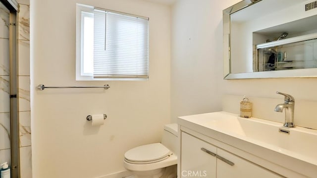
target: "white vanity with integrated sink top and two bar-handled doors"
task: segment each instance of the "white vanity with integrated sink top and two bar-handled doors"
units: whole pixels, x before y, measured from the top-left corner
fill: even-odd
[[[226,112],[179,117],[178,124],[180,178],[317,175],[317,130]]]

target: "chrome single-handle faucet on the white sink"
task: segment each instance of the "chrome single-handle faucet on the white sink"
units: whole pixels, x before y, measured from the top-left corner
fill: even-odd
[[[283,109],[285,108],[285,123],[284,126],[286,127],[295,127],[294,125],[294,105],[295,100],[291,95],[276,92],[276,94],[284,95],[284,103],[276,105],[274,111],[276,112],[283,112]]]

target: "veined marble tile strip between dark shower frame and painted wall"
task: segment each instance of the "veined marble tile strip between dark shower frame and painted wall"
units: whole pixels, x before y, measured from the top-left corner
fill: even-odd
[[[30,1],[17,0],[18,13],[18,79],[20,119],[21,178],[32,178],[31,108],[30,108]]]

